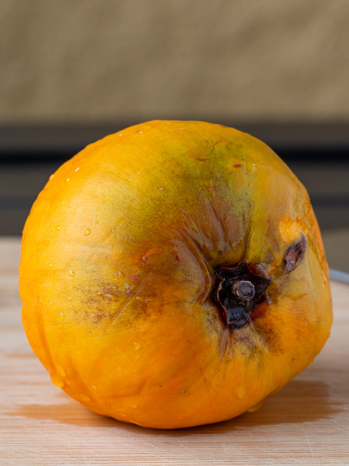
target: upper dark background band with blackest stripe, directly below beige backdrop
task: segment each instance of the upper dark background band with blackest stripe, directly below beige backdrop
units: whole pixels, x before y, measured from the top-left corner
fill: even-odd
[[[213,121],[250,133],[268,144],[285,160],[331,162],[349,156],[349,122],[238,122]],[[137,121],[113,124],[2,125],[0,161],[64,161],[107,134]]]

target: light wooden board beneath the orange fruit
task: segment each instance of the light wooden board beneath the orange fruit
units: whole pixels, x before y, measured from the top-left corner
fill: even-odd
[[[0,466],[349,465],[349,286],[325,348],[255,413],[174,431],[91,413],[55,387],[20,321],[20,241],[0,240]]]

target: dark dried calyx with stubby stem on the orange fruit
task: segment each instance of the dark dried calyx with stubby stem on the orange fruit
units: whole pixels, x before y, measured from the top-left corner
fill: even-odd
[[[270,277],[253,272],[246,262],[235,267],[217,268],[215,276],[214,298],[220,306],[223,321],[231,329],[248,324],[254,308],[266,300]]]

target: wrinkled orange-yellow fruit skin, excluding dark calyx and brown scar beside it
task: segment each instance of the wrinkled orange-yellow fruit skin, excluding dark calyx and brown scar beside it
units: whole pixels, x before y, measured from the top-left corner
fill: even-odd
[[[283,273],[287,248],[305,255]],[[271,277],[230,330],[214,269]],[[177,428],[253,409],[330,333],[328,266],[305,188],[261,141],[151,121],[87,146],[52,175],[23,232],[23,325],[52,382],[89,409]]]

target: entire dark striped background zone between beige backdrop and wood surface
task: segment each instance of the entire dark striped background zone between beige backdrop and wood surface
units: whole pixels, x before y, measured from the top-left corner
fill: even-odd
[[[32,202],[65,160],[135,123],[0,126],[0,235],[21,234]],[[216,123],[253,134],[286,161],[307,188],[322,231],[349,228],[349,122]]]

